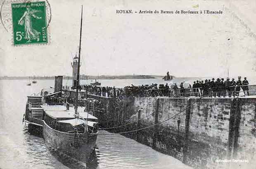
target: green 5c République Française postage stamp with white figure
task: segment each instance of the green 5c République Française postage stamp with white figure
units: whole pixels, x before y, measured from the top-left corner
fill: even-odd
[[[13,45],[48,42],[45,2],[12,4]]]

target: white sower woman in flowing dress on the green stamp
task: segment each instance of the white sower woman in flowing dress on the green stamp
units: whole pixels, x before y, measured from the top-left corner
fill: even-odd
[[[36,40],[36,39],[37,41],[39,41],[40,32],[33,29],[33,26],[32,26],[32,17],[35,19],[41,19],[41,17],[38,17],[34,14],[36,12],[40,12],[40,10],[31,9],[30,5],[27,5],[26,11],[21,16],[21,19],[19,19],[19,22],[18,22],[19,25],[23,25],[23,22],[25,21],[24,31],[25,31],[25,39],[28,40],[27,43],[31,42],[31,40]]]

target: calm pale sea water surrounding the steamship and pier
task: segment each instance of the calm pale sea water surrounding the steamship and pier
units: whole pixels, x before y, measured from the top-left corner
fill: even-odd
[[[183,79],[176,80],[181,82]],[[191,81],[191,80],[190,80]],[[91,81],[82,81],[88,84]],[[123,87],[162,83],[150,80],[100,80],[104,86]],[[0,168],[1,169],[85,169],[82,162],[59,155],[43,137],[27,132],[22,124],[26,96],[54,87],[54,80],[38,80],[26,86],[28,80],[0,80]],[[64,80],[63,85],[70,85]],[[107,131],[100,131],[107,133]],[[190,169],[175,158],[152,150],[148,146],[121,135],[98,136],[97,147],[89,169]]]

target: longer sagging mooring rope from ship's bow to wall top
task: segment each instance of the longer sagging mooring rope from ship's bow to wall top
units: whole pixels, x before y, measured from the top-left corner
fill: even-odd
[[[205,95],[205,96],[206,96],[206,95]],[[156,126],[156,125],[159,125],[159,124],[161,124],[161,123],[163,123],[163,122],[166,122],[166,121],[168,121],[168,120],[172,119],[173,117],[175,117],[175,116],[179,115],[180,113],[183,113],[185,110],[187,110],[187,108],[190,108],[194,103],[196,103],[197,101],[199,101],[199,99],[201,99],[201,98],[203,98],[203,97],[205,97],[205,96],[201,96],[201,97],[199,97],[199,98],[198,98],[196,101],[194,101],[192,104],[190,104],[189,106],[187,106],[186,108],[184,108],[183,110],[181,110],[179,113],[177,113],[177,114],[173,115],[172,117],[170,117],[170,118],[168,118],[168,119],[166,119],[166,120],[164,120],[164,121],[158,122],[158,123],[156,123],[156,124],[150,125],[150,126],[148,126],[148,127],[144,127],[144,128],[136,129],[136,130],[131,130],[131,131],[119,132],[119,133],[90,134],[90,135],[114,135],[114,134],[126,134],[126,133],[132,133],[132,132],[135,132],[135,131],[145,130],[145,129],[148,129],[148,128],[150,128],[150,127],[154,127],[154,126]]]

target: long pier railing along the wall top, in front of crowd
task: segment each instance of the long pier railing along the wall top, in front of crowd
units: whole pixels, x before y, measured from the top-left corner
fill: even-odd
[[[102,87],[101,87],[102,88]],[[76,88],[64,86],[63,89],[76,91]],[[119,88],[116,88],[116,91]],[[239,91],[238,91],[239,90]],[[176,88],[176,89],[135,89],[126,90],[122,89],[122,93],[113,93],[113,88],[111,91],[102,92],[102,90],[97,91],[95,89],[88,89],[86,92],[85,86],[81,86],[80,92],[85,92],[85,94],[91,94],[96,96],[104,97],[225,97],[225,96],[237,96],[239,93],[244,93],[244,95],[256,95],[256,85],[240,85],[240,86],[230,86],[230,87],[197,87],[197,88]],[[240,94],[241,95],[241,94]]]

